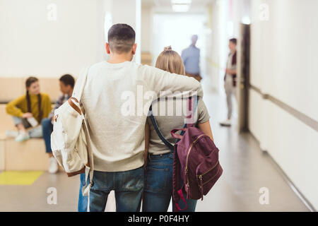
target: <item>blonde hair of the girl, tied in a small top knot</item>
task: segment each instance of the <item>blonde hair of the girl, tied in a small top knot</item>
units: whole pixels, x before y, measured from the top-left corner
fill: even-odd
[[[171,46],[165,47],[163,52],[160,53],[157,61],[155,61],[155,67],[185,76],[182,58],[177,52],[172,50]]]

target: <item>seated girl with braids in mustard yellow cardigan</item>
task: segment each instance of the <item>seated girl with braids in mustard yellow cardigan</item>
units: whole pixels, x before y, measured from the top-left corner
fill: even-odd
[[[40,93],[37,78],[28,78],[25,86],[26,95],[18,97],[6,105],[6,113],[12,115],[14,124],[18,128],[18,132],[6,131],[6,136],[15,137],[18,142],[26,141],[29,138],[42,137],[41,121],[52,110],[49,95]],[[33,128],[29,129],[31,127]]]

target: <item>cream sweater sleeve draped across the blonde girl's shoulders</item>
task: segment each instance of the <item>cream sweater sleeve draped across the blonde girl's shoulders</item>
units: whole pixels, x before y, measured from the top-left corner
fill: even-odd
[[[158,97],[185,97],[191,95],[203,97],[201,83],[196,79],[169,73],[153,66],[144,67],[143,76],[148,88],[155,91]]]

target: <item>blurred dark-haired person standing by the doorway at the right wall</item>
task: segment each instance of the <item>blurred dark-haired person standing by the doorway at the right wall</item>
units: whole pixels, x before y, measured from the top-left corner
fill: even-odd
[[[225,76],[224,76],[224,88],[226,94],[226,102],[228,104],[228,119],[220,122],[221,126],[231,125],[232,116],[232,95],[236,96],[236,38],[232,38],[229,41],[228,47],[230,48],[230,54],[228,54],[228,62],[226,63]]]

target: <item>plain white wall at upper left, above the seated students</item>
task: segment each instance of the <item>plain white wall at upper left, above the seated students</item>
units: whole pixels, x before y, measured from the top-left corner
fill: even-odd
[[[57,20],[48,21],[49,4]],[[0,76],[75,76],[104,54],[101,1],[1,0]]]

